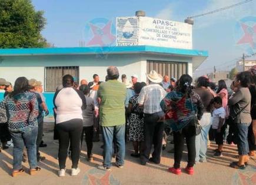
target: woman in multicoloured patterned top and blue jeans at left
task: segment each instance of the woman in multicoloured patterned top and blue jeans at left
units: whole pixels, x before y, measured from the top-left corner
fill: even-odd
[[[0,122],[8,122],[8,129],[14,142],[14,170],[12,176],[23,173],[22,153],[24,146],[28,152],[29,173],[41,169],[36,160],[36,137],[38,133],[38,102],[35,93],[28,90],[28,79],[15,80],[14,91],[0,103]]]

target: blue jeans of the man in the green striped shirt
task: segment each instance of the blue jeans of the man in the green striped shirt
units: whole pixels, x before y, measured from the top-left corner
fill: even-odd
[[[125,125],[118,126],[102,126],[103,141],[104,141],[104,166],[111,167],[111,159],[113,154],[113,137],[117,142],[117,164],[124,165],[125,157]]]

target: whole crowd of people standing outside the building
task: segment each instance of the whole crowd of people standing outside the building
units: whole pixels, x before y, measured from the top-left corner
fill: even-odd
[[[147,74],[148,82],[138,82],[138,75],[126,75],[118,81],[117,67],[109,66],[105,82],[95,74],[92,82],[81,80],[78,85],[71,75],[62,78],[62,85],[54,95],[55,133],[59,140],[58,160],[60,177],[65,176],[66,160],[72,160],[71,175],[77,176],[84,140],[87,145],[88,162],[93,161],[93,142],[103,140],[103,164],[101,170],[111,170],[112,157],[115,166],[124,167],[125,145],[132,142],[132,157],[159,164],[164,149],[164,136],[172,134],[174,143],[174,166],[168,170],[181,174],[180,163],[187,143],[188,174],[194,174],[194,165],[207,162],[209,132],[218,145],[214,157],[222,156],[225,138],[229,144],[237,144],[239,159],[230,167],[245,169],[248,155],[254,155],[256,136],[256,69],[238,73],[231,84],[233,93],[228,95],[224,80],[216,88],[207,76],[195,82],[189,75],[178,80],[155,70]],[[28,157],[30,174],[41,170],[37,162],[45,157],[39,153],[42,142],[44,116],[49,111],[42,95],[42,83],[35,79],[19,77],[14,88],[0,79],[5,90],[0,103],[0,136],[2,149],[12,139],[12,176],[24,172],[22,160]],[[228,129],[228,136],[226,130]],[[25,146],[25,149],[24,149]],[[151,154],[151,148],[154,152]]]

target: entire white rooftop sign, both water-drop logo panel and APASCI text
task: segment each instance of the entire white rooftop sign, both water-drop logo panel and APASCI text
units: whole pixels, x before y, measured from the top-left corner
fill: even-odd
[[[192,25],[145,16],[117,18],[117,46],[192,49]]]

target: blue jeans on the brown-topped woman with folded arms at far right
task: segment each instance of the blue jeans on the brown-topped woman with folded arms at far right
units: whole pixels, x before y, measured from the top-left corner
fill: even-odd
[[[239,155],[247,155],[249,150],[248,144],[248,127],[251,123],[237,123],[237,149]]]

